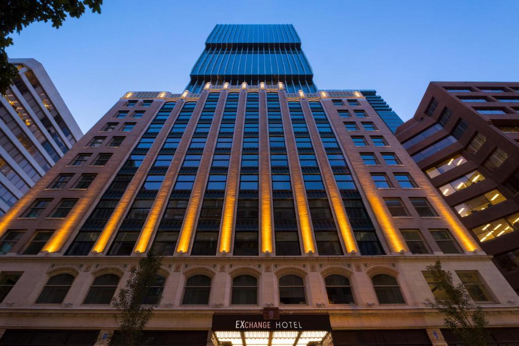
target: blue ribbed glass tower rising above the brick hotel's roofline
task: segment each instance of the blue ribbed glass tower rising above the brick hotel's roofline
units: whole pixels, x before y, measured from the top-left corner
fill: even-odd
[[[276,85],[279,81],[288,92],[317,91],[312,68],[292,24],[217,24],[186,89],[199,92],[207,82]]]

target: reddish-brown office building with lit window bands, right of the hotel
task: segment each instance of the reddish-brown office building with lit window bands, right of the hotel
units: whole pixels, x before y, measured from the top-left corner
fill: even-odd
[[[519,82],[432,82],[397,138],[519,292]]]

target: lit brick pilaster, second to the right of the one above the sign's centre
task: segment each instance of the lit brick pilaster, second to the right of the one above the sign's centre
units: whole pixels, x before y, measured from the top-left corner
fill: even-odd
[[[355,237],[353,235],[353,231],[351,230],[348,217],[346,216],[343,200],[340,197],[339,188],[337,187],[337,183],[335,182],[335,176],[333,175],[332,169],[328,162],[328,157],[326,156],[326,151],[324,150],[321,141],[321,136],[317,131],[316,123],[313,120],[313,116],[311,115],[311,109],[308,107],[307,102],[302,101],[301,104],[304,104],[303,114],[305,115],[307,127],[310,131],[310,137],[313,142],[313,148],[316,152],[317,158],[319,159],[319,166],[321,168],[322,175],[324,176],[326,188],[330,193],[332,209],[337,218],[337,223],[339,224],[340,234],[343,237],[346,251],[348,253],[350,253],[352,250],[354,250],[355,252],[359,252],[359,248],[357,247],[357,243],[355,242]],[[319,102],[319,104],[321,103]]]

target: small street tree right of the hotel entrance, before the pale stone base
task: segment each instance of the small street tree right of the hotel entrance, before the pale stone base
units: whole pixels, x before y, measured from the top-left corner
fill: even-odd
[[[427,299],[426,304],[445,315],[445,326],[452,329],[465,344],[486,345],[485,327],[488,321],[483,309],[474,304],[463,284],[454,286],[452,273],[444,271],[439,260],[428,266],[427,270],[432,275],[436,289],[441,291],[445,299]]]

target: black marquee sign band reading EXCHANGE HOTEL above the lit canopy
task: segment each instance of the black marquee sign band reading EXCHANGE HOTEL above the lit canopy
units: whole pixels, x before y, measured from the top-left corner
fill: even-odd
[[[279,319],[271,320],[265,314],[215,313],[211,329],[213,331],[332,330],[332,326],[328,314],[279,314]]]

